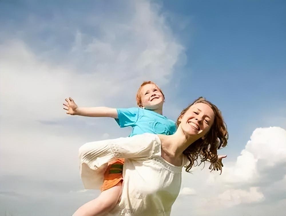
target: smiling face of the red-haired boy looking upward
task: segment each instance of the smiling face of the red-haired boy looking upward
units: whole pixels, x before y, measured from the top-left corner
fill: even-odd
[[[164,96],[155,84],[146,84],[140,91],[142,108],[154,110],[163,107]]]

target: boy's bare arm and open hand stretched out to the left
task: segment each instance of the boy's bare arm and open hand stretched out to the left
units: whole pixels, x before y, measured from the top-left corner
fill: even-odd
[[[63,109],[69,115],[82,115],[88,117],[111,117],[118,118],[117,110],[109,107],[78,107],[72,98],[66,98]]]

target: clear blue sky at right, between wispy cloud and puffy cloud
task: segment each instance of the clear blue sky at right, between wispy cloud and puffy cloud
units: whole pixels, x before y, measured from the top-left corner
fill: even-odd
[[[256,127],[285,128],[285,2],[165,1],[163,8],[188,21],[176,33],[188,44],[179,94],[221,103],[230,140],[243,145]],[[261,121],[274,113],[283,121]]]

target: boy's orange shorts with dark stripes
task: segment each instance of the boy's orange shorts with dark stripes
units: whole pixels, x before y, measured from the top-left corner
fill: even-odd
[[[124,158],[120,158],[108,163],[108,167],[104,173],[103,184],[100,188],[101,191],[105,191],[109,188],[112,188],[120,181],[123,181],[123,164]]]

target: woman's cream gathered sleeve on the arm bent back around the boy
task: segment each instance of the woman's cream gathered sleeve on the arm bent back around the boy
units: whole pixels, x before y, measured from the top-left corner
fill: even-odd
[[[86,189],[99,189],[107,163],[116,158],[147,159],[161,155],[160,139],[144,133],[127,138],[90,142],[80,147],[80,174]]]

